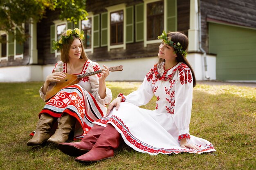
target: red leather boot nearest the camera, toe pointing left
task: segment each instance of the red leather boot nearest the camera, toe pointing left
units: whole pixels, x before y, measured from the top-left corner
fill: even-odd
[[[78,162],[94,162],[114,157],[114,149],[121,143],[121,135],[111,125],[107,124],[93,148],[84,155],[77,157]]]

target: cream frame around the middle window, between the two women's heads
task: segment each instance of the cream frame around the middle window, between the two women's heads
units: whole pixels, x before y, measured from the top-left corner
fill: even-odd
[[[108,10],[108,51],[110,49],[117,49],[117,48],[123,48],[126,49],[126,4],[118,4],[110,7],[106,7]],[[116,12],[116,11],[123,11],[124,15],[124,24],[123,24],[123,43],[122,44],[117,44],[117,45],[111,45],[110,43],[110,13]]]

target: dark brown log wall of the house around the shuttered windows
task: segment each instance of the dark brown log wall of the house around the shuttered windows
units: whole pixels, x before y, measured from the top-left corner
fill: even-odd
[[[106,7],[125,3],[127,7],[143,3],[143,0],[87,0],[86,10],[93,12],[94,15],[106,12]],[[189,29],[189,4],[190,0],[177,0],[177,30],[188,34]],[[54,20],[59,19],[59,10],[47,10],[45,17],[37,23],[37,50],[38,50],[38,64],[54,64],[58,58],[54,53],[50,53],[50,26]],[[135,20],[135,15],[134,15]],[[135,24],[134,24],[135,26]],[[26,25],[28,32],[28,24]],[[135,29],[135,28],[134,28]],[[135,36],[135,34],[134,34]],[[135,37],[134,37],[135,40]],[[111,49],[108,51],[107,47],[94,48],[94,53],[88,52],[91,60],[116,60],[127,58],[152,57],[158,53],[159,44],[148,44],[144,47],[144,42],[133,42],[126,44],[126,50]],[[1,61],[0,66],[14,66],[29,64],[29,41],[24,44],[24,58],[14,60],[13,57],[8,58],[8,62]]]

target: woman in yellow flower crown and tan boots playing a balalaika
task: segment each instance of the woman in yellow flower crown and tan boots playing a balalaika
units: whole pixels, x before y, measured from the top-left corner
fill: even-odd
[[[68,29],[58,42],[54,42],[54,49],[61,52],[61,62],[46,77],[39,91],[42,99],[45,99],[49,84],[64,79],[64,73],[81,75],[101,69],[99,64],[88,59],[81,40],[83,37],[83,31]],[[92,128],[93,121],[106,115],[105,105],[111,102],[112,93],[105,82],[109,75],[108,67],[104,66],[101,71],[82,78],[78,84],[62,88],[45,104],[39,113],[36,130],[31,133],[33,138],[27,142],[28,146],[40,145],[46,141],[53,144],[65,142],[71,130],[74,130],[74,139],[81,139]],[[54,124],[57,123],[56,129]]]

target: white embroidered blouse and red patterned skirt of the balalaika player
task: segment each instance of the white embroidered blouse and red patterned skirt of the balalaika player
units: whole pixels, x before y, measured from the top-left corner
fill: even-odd
[[[58,62],[53,72],[63,71],[67,73],[66,65],[66,63]],[[100,69],[99,64],[87,60],[81,73],[74,75],[90,73]],[[63,113],[70,114],[77,119],[74,128],[74,140],[83,138],[92,128],[93,122],[106,115],[106,104],[112,100],[112,93],[109,88],[106,89],[106,97],[104,99],[99,96],[100,76],[101,73],[84,77],[78,84],[62,88],[45,104],[39,116],[42,113],[48,113],[53,117],[61,117]],[[42,92],[42,88],[39,93],[44,99],[45,95]]]

